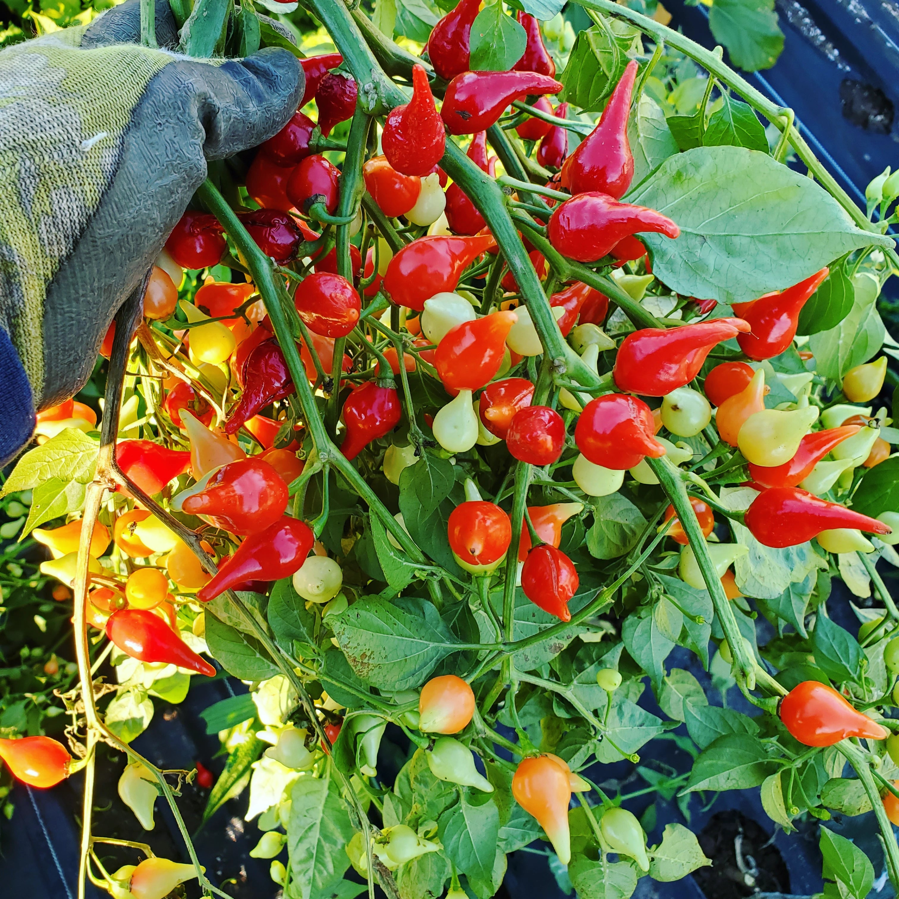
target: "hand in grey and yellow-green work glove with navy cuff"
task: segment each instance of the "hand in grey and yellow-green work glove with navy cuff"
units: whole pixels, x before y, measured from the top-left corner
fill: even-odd
[[[73,396],[206,177],[296,111],[285,49],[195,60],[138,46],[139,0],[0,52],[0,464]],[[174,49],[169,4],[156,40]]]

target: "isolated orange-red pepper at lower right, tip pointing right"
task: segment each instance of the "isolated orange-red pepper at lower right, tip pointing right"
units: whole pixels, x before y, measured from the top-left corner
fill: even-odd
[[[852,708],[832,687],[803,681],[780,700],[780,720],[806,746],[832,746],[850,736],[886,740],[890,731]]]

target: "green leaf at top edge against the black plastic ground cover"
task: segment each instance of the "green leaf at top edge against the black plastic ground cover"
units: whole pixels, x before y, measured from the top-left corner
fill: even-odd
[[[724,44],[734,66],[755,72],[770,68],[784,49],[774,0],[715,0],[708,27]]]

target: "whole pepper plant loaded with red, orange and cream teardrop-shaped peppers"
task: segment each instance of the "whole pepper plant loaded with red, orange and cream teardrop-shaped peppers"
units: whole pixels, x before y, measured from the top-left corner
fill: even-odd
[[[309,0],[336,52],[302,58],[296,115],[210,171],[120,310],[99,440],[84,404],[45,411],[5,482],[32,492],[23,534],[58,525],[43,570],[74,587],[81,689],[68,749],[0,757],[38,787],[85,770],[82,891],[226,895],[184,772],[129,746],[148,692],[215,671],[202,654],[253,703],[207,712],[230,751],[208,814],[254,763],[253,854],[284,895],[486,899],[539,839],[587,899],[680,879],[709,863],[694,834],[647,846],[592,766],[681,724],[684,807],[761,788],[786,831],[873,810],[899,884],[899,610],[876,567],[899,565],[899,432],[875,359],[899,186],[866,216],[791,111],[610,0],[583,0],[602,37],[556,73],[531,14],[556,10],[532,5],[462,0],[425,52],[380,6]],[[293,48],[246,0],[172,12],[194,56]],[[882,603],[858,638],[834,576]],[[711,705],[676,645],[753,714]],[[392,783],[388,724],[410,747]],[[128,753],[143,826],[165,798],[190,864],[93,833],[98,742]],[[871,860],[821,834],[826,877],[867,895]],[[103,843],[133,864],[108,871]]]

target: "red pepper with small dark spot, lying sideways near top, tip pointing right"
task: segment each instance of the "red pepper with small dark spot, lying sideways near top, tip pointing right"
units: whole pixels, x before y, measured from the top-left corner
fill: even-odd
[[[450,134],[474,134],[494,125],[513,100],[558,93],[562,86],[535,72],[463,72],[449,82],[441,117]]]

